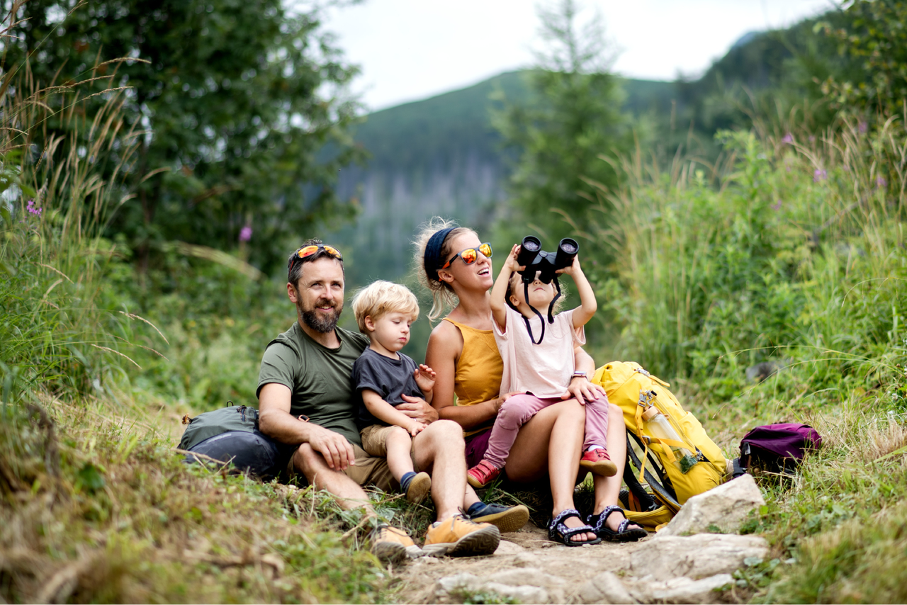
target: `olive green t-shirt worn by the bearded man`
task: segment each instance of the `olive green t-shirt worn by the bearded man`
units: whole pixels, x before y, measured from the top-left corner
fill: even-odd
[[[299,323],[268,343],[258,372],[258,390],[268,383],[290,390],[291,415],[305,414],[319,426],[361,445],[356,428],[358,402],[350,385],[353,363],[368,346],[368,338],[336,328],[340,346],[327,348],[312,340]]]

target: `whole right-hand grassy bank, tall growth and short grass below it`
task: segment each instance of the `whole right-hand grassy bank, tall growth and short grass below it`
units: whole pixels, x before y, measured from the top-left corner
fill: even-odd
[[[590,231],[616,250],[599,281],[616,356],[670,381],[730,457],[757,424],[824,436],[795,480],[760,480],[745,531],[773,554],[737,574],[752,600],[903,602],[903,124],[815,134],[791,119],[722,139],[714,166],[628,159],[629,186],[602,196],[611,219]],[[785,369],[747,383],[768,359]]]

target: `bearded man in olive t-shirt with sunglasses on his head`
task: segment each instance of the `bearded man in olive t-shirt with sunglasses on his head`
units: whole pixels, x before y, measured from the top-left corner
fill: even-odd
[[[337,327],[343,311],[344,267],[340,252],[309,239],[288,259],[287,295],[297,321],[272,340],[258,377],[259,430],[295,449],[288,471],[333,493],[347,509],[374,514],[362,486],[385,491],[393,475],[383,457],[366,454],[356,429],[357,403],[351,374],[368,338]],[[529,517],[524,506],[483,504],[466,484],[463,430],[424,400],[398,405],[405,415],[428,424],[414,436],[414,468],[432,475],[437,522],[425,537],[426,552],[481,555],[500,541],[498,527],[512,529]],[[460,508],[469,511],[463,513]],[[485,522],[487,521],[487,522]],[[405,532],[378,524],[372,550],[385,561],[423,554]]]

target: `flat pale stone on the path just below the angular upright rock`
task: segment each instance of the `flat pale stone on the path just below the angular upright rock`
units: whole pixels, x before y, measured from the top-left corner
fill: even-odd
[[[663,536],[642,542],[630,552],[628,571],[638,578],[651,576],[655,581],[681,576],[698,580],[732,573],[743,567],[744,559],[766,559],[767,555],[768,542],[759,536],[721,533]]]

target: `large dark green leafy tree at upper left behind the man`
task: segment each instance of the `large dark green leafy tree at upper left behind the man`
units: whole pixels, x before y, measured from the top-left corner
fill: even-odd
[[[356,68],[320,30],[317,8],[30,0],[15,4],[15,18],[5,63],[22,71],[30,57],[37,88],[128,87],[112,144],[138,145],[132,196],[106,233],[125,234],[142,268],[172,240],[244,249],[262,267],[279,267],[287,239],[318,219],[349,215],[333,185],[340,167],[362,157],[346,133],[356,103],[343,93]],[[105,98],[83,102],[89,119]],[[65,105],[61,96],[52,107]],[[44,127],[32,133],[39,152],[73,132],[54,116]],[[248,230],[240,238],[243,228],[251,239]]]

